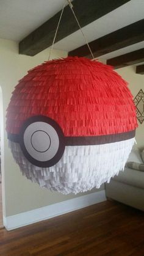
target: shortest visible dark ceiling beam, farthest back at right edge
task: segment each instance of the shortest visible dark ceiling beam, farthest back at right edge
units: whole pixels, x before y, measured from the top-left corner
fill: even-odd
[[[108,59],[107,65],[112,65],[114,68],[123,68],[129,65],[134,65],[144,61],[144,48],[131,53]]]

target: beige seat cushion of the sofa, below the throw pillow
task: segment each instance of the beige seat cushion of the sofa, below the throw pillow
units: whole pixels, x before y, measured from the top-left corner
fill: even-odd
[[[113,180],[144,189],[144,172],[140,172],[139,170],[132,170],[125,167],[124,171],[119,172],[118,176],[115,175]]]

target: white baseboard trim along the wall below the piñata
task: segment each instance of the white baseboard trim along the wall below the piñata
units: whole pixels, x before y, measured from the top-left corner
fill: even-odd
[[[4,217],[4,226],[7,230],[18,229],[25,225],[54,218],[61,214],[69,213],[70,211],[75,211],[106,200],[105,190],[94,192],[60,203],[54,203],[54,205],[48,205],[46,207],[26,211],[24,213]]]

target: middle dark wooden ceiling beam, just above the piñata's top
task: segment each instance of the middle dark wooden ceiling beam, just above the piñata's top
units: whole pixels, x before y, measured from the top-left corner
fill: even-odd
[[[102,56],[117,49],[124,48],[144,40],[144,19],[129,26],[118,29],[104,37],[89,43],[95,57]],[[83,45],[68,53],[69,56],[91,57],[87,45]]]

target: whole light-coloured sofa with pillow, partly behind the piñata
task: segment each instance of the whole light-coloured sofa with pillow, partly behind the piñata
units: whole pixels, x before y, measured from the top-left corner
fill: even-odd
[[[132,149],[128,161],[143,163],[136,147]],[[120,172],[106,184],[106,196],[107,199],[144,211],[144,172],[125,167],[124,172]]]

